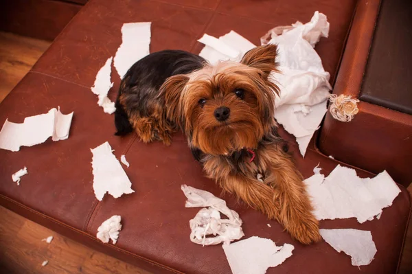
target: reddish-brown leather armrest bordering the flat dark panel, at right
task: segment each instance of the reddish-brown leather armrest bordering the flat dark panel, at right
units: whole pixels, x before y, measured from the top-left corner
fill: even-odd
[[[359,98],[364,80],[378,83],[383,79],[379,75],[374,79],[363,78],[379,8],[378,0],[359,2],[333,93]],[[389,38],[383,40],[386,39]],[[389,45],[391,43],[387,47]],[[374,61],[379,67],[374,68],[375,71],[388,69],[384,57],[374,58],[382,60],[382,64]],[[397,84],[402,85],[403,81],[408,79],[399,79]],[[398,89],[387,87],[385,92],[395,97]],[[337,121],[329,112],[326,114],[318,143],[320,150],[371,172],[387,170],[398,183],[409,185],[412,182],[412,115],[363,101],[358,108],[359,113],[347,123]]]

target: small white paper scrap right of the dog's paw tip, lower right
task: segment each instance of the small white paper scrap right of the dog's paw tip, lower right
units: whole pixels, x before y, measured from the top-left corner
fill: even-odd
[[[377,252],[371,231],[358,229],[319,229],[323,240],[336,251],[352,257],[353,266],[366,266]]]

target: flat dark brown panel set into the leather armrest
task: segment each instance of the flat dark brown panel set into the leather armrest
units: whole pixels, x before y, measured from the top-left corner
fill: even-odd
[[[412,115],[412,1],[382,0],[359,98]]]

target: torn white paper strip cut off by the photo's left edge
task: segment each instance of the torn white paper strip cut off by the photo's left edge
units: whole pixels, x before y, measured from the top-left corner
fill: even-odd
[[[19,151],[21,146],[34,146],[52,137],[53,141],[69,137],[73,113],[62,114],[60,108],[48,113],[25,117],[22,124],[5,120],[0,131],[0,148]]]

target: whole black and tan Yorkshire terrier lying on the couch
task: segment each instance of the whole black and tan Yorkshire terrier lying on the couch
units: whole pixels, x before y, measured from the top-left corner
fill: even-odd
[[[150,54],[120,84],[115,134],[170,145],[182,130],[209,178],[310,244],[321,239],[319,223],[273,117],[276,54],[276,45],[255,47],[240,63],[214,66],[179,50]]]

